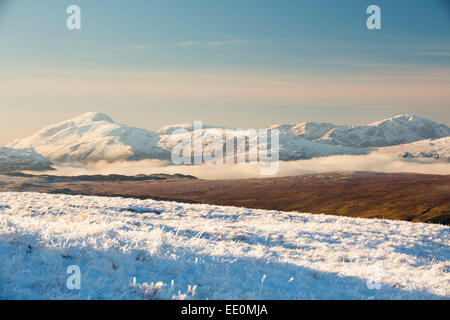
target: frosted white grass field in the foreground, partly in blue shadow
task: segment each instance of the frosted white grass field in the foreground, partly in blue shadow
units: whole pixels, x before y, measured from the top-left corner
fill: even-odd
[[[449,299],[449,245],[443,225],[0,193],[0,299]]]

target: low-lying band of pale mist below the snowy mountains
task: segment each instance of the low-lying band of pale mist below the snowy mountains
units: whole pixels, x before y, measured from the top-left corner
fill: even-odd
[[[133,162],[98,162],[89,166],[57,166],[51,175],[122,174],[138,175],[152,173],[188,174],[201,179],[263,178],[260,164],[191,165],[171,166],[165,161],[143,160]],[[308,173],[334,171],[411,172],[426,174],[450,174],[450,163],[432,159],[403,159],[390,154],[361,156],[330,156],[309,160],[280,161],[276,176],[293,176]]]

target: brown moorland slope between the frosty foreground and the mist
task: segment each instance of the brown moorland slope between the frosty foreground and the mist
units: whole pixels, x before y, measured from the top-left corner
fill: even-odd
[[[450,224],[449,175],[337,172],[231,180],[89,180],[3,177],[0,191],[125,196]]]

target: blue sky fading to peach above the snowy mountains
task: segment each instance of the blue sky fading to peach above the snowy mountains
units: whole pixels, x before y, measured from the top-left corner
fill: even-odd
[[[0,0],[0,145],[88,111],[150,130],[450,125],[449,1]]]

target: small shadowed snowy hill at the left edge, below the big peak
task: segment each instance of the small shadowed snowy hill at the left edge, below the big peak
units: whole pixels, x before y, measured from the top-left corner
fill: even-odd
[[[0,172],[23,170],[52,170],[52,162],[32,149],[0,148]]]

